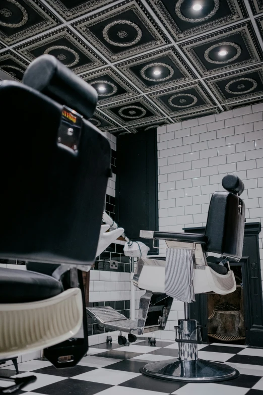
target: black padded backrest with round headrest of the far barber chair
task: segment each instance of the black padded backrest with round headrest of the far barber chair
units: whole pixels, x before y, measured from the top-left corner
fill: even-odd
[[[215,192],[210,201],[205,232],[209,239],[207,250],[239,260],[245,226],[245,204],[239,195],[244,184],[237,176],[228,175],[222,185],[228,192]]]

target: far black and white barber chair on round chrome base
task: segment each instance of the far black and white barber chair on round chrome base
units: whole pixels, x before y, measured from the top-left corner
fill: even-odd
[[[204,235],[150,231],[140,233],[142,238],[165,240],[168,248],[191,250],[194,294],[225,295],[236,289],[229,260],[239,261],[242,256],[245,204],[239,195],[243,192],[244,185],[235,175],[225,176],[222,185],[227,192],[215,192],[212,195]],[[220,257],[209,256],[210,253],[220,254]],[[150,307],[154,306],[153,297],[158,296],[163,301],[170,298],[164,291],[165,265],[165,261],[157,259],[139,260],[134,284],[140,289],[151,290],[145,294],[149,294],[149,297],[152,295]],[[198,345],[202,344],[201,327],[196,320],[189,318],[189,303],[184,306],[185,318],[179,319],[178,326],[175,326],[178,359],[147,364],[141,368],[141,373],[154,378],[183,382],[213,382],[237,377],[239,372],[228,365],[198,358]],[[168,314],[169,308],[166,306],[156,322],[165,323]],[[145,320],[143,315],[145,312],[143,314],[140,306],[138,326],[140,320],[145,325],[149,324],[147,321],[150,318],[146,315]],[[152,324],[154,326],[154,322]]]

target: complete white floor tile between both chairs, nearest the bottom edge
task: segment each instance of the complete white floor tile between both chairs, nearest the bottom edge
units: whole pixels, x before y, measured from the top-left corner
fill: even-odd
[[[132,378],[141,376],[141,373],[124,372],[113,369],[96,369],[91,372],[71,377],[75,380],[93,381],[95,383],[118,385]]]

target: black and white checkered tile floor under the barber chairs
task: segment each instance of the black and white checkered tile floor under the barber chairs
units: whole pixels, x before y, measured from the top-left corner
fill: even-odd
[[[20,391],[23,395],[263,395],[263,349],[235,345],[202,345],[202,359],[226,362],[240,372],[234,380],[220,383],[176,383],[146,377],[139,372],[151,361],[177,357],[177,344],[157,341],[150,346],[138,340],[129,347],[100,344],[89,349],[75,368],[55,369],[45,359],[20,363],[18,376],[37,376]],[[14,366],[0,369],[1,376],[14,376]],[[10,385],[0,381],[0,387]],[[222,387],[223,386],[223,387]]]

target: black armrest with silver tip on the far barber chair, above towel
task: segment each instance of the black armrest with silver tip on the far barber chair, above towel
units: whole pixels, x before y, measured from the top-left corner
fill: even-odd
[[[208,243],[208,237],[206,235],[199,235],[195,233],[141,231],[140,237],[144,239],[172,240],[172,241],[180,241],[185,243],[199,243],[205,246]]]

